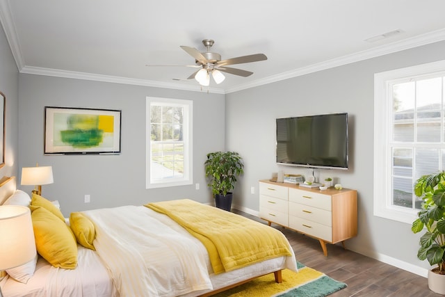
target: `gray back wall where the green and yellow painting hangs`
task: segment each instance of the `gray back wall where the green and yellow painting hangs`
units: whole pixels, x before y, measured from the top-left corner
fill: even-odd
[[[145,189],[145,97],[193,100],[193,177],[190,186]],[[72,211],[191,198],[213,202],[204,179],[207,152],[224,150],[224,95],[19,74],[19,170],[53,166],[42,195]],[[44,106],[122,110],[120,155],[44,156]],[[218,116],[216,116],[218,115]],[[200,190],[195,190],[195,184]],[[31,192],[32,186],[22,186]],[[91,202],[84,203],[89,194]]]

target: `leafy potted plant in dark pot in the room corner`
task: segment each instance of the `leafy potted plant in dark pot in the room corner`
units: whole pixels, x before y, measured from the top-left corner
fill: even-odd
[[[210,152],[204,166],[216,207],[230,211],[236,177],[244,172],[241,156],[237,152]]]

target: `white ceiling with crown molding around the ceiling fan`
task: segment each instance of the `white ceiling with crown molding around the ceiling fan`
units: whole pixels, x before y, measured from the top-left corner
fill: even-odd
[[[211,81],[214,93],[445,40],[444,12],[444,0],[0,0],[23,73],[200,90],[194,79],[173,80],[194,68],[145,65],[193,65],[179,46],[205,51],[203,39],[223,59],[268,56],[232,65],[254,74],[225,74]]]

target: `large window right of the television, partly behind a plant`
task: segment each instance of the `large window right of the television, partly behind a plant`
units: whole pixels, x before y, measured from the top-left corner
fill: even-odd
[[[375,74],[374,215],[412,223],[422,175],[445,168],[445,61]]]

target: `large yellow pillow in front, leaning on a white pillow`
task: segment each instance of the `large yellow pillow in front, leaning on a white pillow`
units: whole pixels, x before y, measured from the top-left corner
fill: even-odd
[[[76,268],[77,243],[70,227],[43,207],[30,208],[38,253],[54,267]]]

